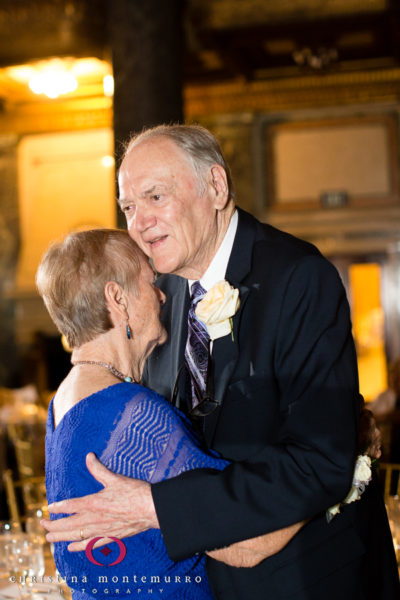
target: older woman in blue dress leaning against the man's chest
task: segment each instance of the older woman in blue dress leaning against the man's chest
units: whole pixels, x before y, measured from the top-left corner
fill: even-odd
[[[165,296],[154,279],[145,255],[126,231],[119,230],[70,234],[48,250],[39,266],[39,293],[73,348],[73,367],[49,407],[49,502],[101,488],[85,466],[90,451],[110,470],[149,482],[228,464],[203,452],[186,418],[140,385],[146,358],[166,339],[159,319]],[[299,528],[211,554],[234,566],[254,566],[281,549]],[[86,552],[78,553],[68,552],[66,542],[55,544],[57,568],[74,589],[75,600],[121,597],[139,590],[165,598],[212,597],[204,556],[171,561],[158,529],[124,543],[113,539],[105,547],[89,544]]]

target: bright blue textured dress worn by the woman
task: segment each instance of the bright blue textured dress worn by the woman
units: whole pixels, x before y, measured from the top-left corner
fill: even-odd
[[[95,452],[115,473],[150,483],[190,469],[223,469],[228,464],[201,450],[189,421],[163,397],[132,383],[118,383],[84,398],[56,429],[51,402],[46,434],[49,503],[102,489],[86,468],[88,452]],[[124,549],[117,541],[86,553],[68,552],[68,543],[55,543],[56,566],[74,600],[212,598],[204,555],[173,562],[159,529],[126,538],[123,544],[126,556],[118,562]]]

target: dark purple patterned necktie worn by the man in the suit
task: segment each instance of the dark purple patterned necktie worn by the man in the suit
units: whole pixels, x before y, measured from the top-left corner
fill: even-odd
[[[195,309],[206,294],[206,290],[199,281],[192,284],[190,309],[188,314],[188,337],[185,348],[185,364],[190,374],[192,407],[197,406],[202,400],[206,389],[208,347],[210,336],[207,328],[195,315]]]

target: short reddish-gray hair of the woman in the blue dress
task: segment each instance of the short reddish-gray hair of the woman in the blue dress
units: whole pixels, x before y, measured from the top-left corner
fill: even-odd
[[[50,246],[37,270],[36,286],[71,348],[112,329],[104,287],[115,281],[137,293],[141,256],[121,229],[70,233]]]

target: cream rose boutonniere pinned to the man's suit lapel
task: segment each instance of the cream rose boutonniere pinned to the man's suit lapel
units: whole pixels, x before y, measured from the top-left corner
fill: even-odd
[[[216,340],[228,333],[232,334],[232,317],[239,306],[239,290],[224,280],[208,290],[197,304],[195,313],[207,327],[210,338]]]

